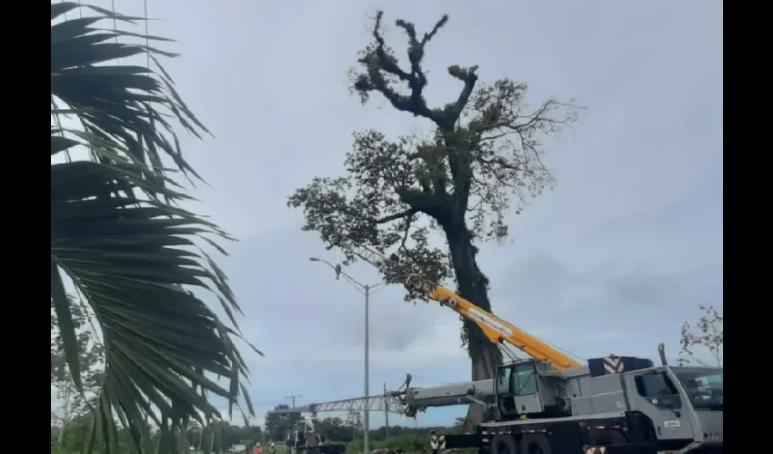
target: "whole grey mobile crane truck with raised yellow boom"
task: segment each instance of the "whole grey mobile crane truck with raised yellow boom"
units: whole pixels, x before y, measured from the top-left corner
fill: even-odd
[[[472,434],[442,439],[433,435],[434,449],[477,448],[496,454],[723,452],[721,368],[668,366],[662,346],[658,367],[652,360],[614,355],[590,359],[584,366],[437,282],[410,272],[396,256],[387,258],[353,245],[356,255],[379,271],[397,270],[408,289],[475,322],[510,359],[497,367],[493,380],[497,418],[477,425]],[[512,347],[530,358],[518,359]],[[478,390],[487,386],[476,384]],[[435,394],[458,392],[458,384],[449,386],[456,388],[435,387]],[[466,391],[469,401],[486,403],[475,397],[475,386],[467,389],[473,390]],[[407,394],[406,400],[411,399],[415,407],[422,405],[416,395]],[[427,397],[425,407],[437,406],[431,399]]]

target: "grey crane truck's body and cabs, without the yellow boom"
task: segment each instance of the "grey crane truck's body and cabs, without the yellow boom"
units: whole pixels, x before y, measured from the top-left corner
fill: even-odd
[[[557,372],[521,360],[497,370],[495,420],[470,434],[433,434],[430,445],[491,454],[717,454],[723,400],[719,368],[609,356]]]

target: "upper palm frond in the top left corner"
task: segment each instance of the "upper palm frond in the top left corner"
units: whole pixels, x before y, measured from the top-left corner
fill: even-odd
[[[75,3],[52,4],[52,20],[76,7]],[[146,36],[96,26],[114,17],[127,23],[141,18],[113,15],[95,6],[82,7],[97,15],[51,26],[52,97],[77,112],[85,133],[126,150],[130,159],[163,172],[162,158],[166,155],[183,173],[200,179],[183,158],[170,120],[176,120],[187,133],[198,138],[208,131],[176,93],[171,78],[156,59],[157,55],[176,54],[146,44],[118,43],[116,38]],[[156,36],[147,39],[169,41]],[[142,65],[115,64],[118,59],[144,55],[156,63],[157,73]],[[105,155],[93,157],[98,162],[111,163]],[[153,173],[146,176],[152,178]]]

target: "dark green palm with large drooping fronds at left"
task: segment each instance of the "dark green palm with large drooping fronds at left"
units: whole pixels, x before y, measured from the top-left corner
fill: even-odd
[[[91,307],[102,333],[104,383],[86,449],[107,454],[118,452],[120,428],[134,451],[156,449],[151,421],[168,439],[186,439],[178,435],[189,419],[203,426],[221,419],[207,400],[212,394],[228,401],[229,412],[244,402],[254,413],[234,345],[241,311],[202,249],[225,253],[215,240],[230,238],[179,206],[190,197],[170,176],[174,169],[189,182],[199,178],[172,123],[197,137],[207,131],[157,62],[175,54],[147,45],[165,40],[112,26],[142,19],[51,5],[51,298],[77,390],[83,383],[68,286]],[[136,38],[142,43],[125,43]],[[227,322],[200,299],[204,291],[220,302]]]

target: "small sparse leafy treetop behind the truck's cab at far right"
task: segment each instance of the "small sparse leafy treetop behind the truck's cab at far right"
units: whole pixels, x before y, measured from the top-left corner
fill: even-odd
[[[722,367],[725,357],[725,316],[713,306],[698,306],[702,315],[698,321],[682,324],[679,365],[698,364]]]

